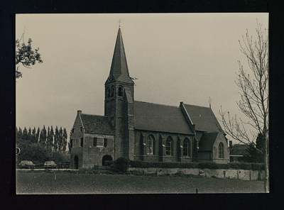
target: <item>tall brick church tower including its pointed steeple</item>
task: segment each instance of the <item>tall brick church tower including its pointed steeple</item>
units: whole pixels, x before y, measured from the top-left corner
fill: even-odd
[[[132,141],[134,141],[134,139],[132,139],[132,137],[130,139],[129,134],[134,132],[134,82],[131,77],[129,77],[129,68],[126,62],[124,43],[120,28],[117,33],[111,70],[104,87],[104,116],[108,116],[111,119],[115,131],[114,160],[118,157],[131,158],[133,150]],[[131,131],[129,131],[129,129]]]

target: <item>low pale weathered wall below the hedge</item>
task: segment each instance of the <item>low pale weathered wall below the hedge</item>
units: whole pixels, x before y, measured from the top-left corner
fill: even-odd
[[[129,172],[155,175],[200,175],[204,177],[217,177],[225,179],[261,180],[264,178],[264,171],[236,170],[236,169],[200,169],[200,168],[141,168],[129,167]]]

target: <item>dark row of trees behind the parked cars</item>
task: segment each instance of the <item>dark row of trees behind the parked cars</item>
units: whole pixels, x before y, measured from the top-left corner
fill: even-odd
[[[40,130],[35,127],[16,128],[16,146],[21,153],[17,155],[18,162],[21,160],[32,160],[34,162],[44,162],[54,160],[55,162],[68,161],[70,155],[66,151],[67,131],[62,127],[45,126]]]

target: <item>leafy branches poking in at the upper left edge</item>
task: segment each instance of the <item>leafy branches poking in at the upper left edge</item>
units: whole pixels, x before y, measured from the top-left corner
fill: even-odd
[[[43,63],[41,60],[40,53],[38,49],[32,50],[31,38],[28,39],[28,45],[24,42],[24,34],[21,36],[20,40],[16,40],[16,65],[22,64],[24,67],[29,68],[31,65],[35,65],[35,62],[38,61],[40,64]],[[22,43],[21,43],[22,42]],[[22,77],[22,73],[19,71],[19,66],[16,67],[16,79]]]

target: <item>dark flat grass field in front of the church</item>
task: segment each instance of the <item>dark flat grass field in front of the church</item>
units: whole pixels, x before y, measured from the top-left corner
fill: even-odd
[[[207,177],[17,172],[17,194],[264,193],[263,182]]]

